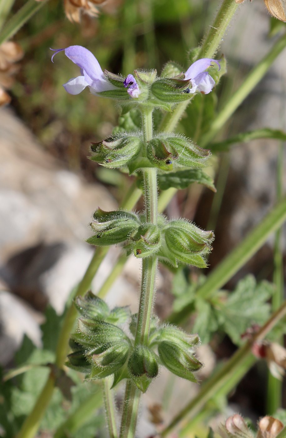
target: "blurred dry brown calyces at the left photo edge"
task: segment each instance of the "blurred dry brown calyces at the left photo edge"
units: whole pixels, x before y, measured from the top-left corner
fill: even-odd
[[[14,63],[23,57],[23,50],[13,41],[3,42],[0,46],[0,106],[10,102],[10,96],[5,89],[10,88],[14,83],[14,74],[18,66]]]

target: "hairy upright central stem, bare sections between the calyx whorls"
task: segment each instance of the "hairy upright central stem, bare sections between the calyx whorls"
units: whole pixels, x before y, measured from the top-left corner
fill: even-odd
[[[152,110],[142,110],[142,124],[145,142],[153,138]],[[144,201],[146,221],[157,223],[157,170],[147,168],[142,170],[144,179]],[[142,260],[141,295],[134,345],[146,345],[150,330],[153,310],[153,300],[156,291],[157,257]],[[140,390],[129,379],[126,383],[125,399],[123,402],[120,438],[133,438],[136,431],[136,419],[140,399]]]

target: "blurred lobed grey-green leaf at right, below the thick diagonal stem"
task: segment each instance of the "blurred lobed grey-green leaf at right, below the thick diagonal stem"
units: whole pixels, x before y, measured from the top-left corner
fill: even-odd
[[[262,325],[269,318],[270,305],[267,300],[273,294],[273,285],[267,281],[256,284],[252,275],[244,277],[220,309],[217,316],[224,319],[222,328],[231,340],[241,344],[241,334],[253,324]]]

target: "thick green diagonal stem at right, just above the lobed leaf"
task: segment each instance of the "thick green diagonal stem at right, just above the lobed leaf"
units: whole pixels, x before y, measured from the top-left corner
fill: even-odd
[[[217,268],[209,274],[206,282],[196,292],[197,297],[209,298],[219,290],[231,277],[258,251],[265,243],[269,234],[276,231],[286,220],[286,198],[283,198],[268,215],[262,219],[254,230],[220,262]],[[181,323],[192,309],[192,303],[187,304],[180,312],[173,313],[169,321]]]

